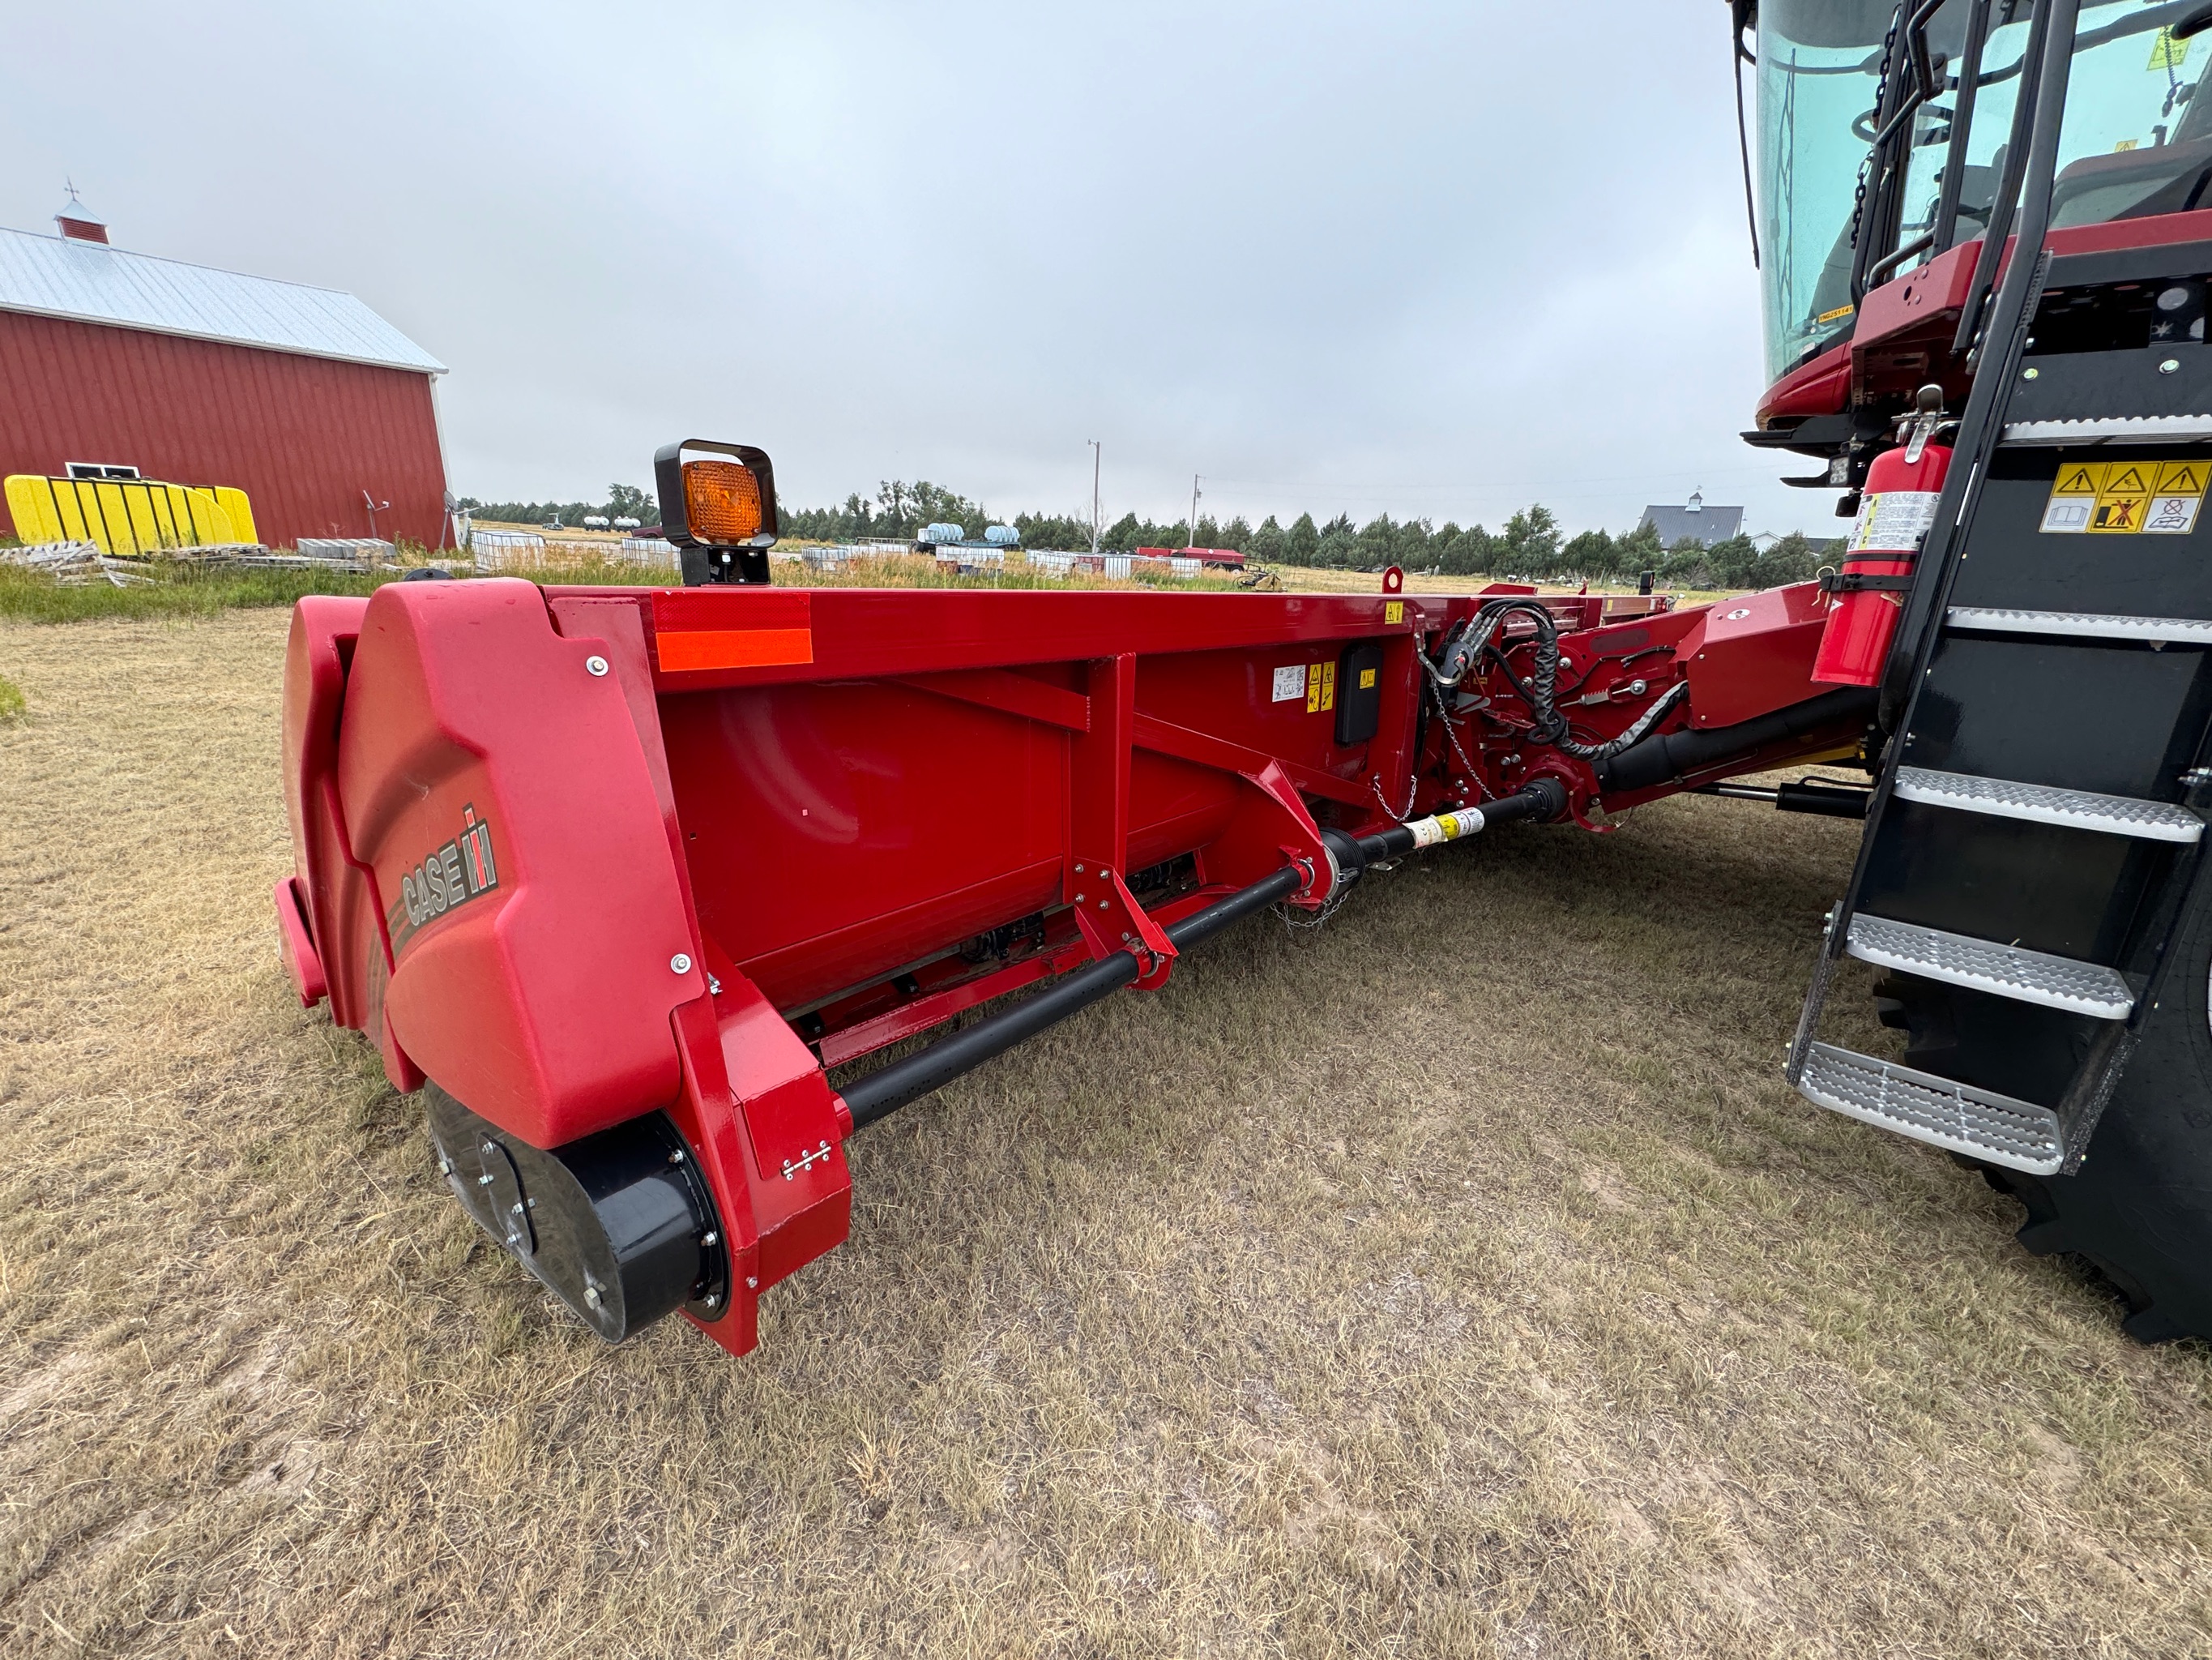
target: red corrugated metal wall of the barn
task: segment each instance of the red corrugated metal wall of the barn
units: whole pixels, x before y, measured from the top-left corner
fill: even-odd
[[[0,474],[122,463],[237,485],[261,540],[380,536],[436,547],[445,460],[429,376],[0,312]]]

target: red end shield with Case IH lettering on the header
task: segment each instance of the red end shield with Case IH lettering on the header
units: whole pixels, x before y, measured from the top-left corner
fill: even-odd
[[[531,582],[389,582],[363,606],[338,735],[392,1036],[533,1147],[670,1100],[670,1011],[708,989],[606,649],[553,633]]]

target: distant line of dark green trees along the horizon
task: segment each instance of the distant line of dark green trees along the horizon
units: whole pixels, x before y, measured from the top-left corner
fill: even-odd
[[[524,525],[582,525],[586,516],[635,518],[659,522],[659,505],[650,491],[630,485],[608,485],[606,502],[476,502],[462,507],[478,518],[515,520]],[[805,542],[911,542],[925,525],[960,525],[980,536],[984,525],[1009,522],[1022,533],[1024,547],[1084,551],[1091,547],[1091,520],[1073,513],[1015,513],[995,520],[980,502],[942,485],[922,480],[885,480],[874,496],[854,491],[836,507],[783,507],[783,536]],[[1124,513],[1104,531],[1099,547],[1130,553],[1139,547],[1183,547],[1188,520],[1157,522]],[[1298,513],[1283,525],[1270,513],[1259,525],[1243,516],[1225,522],[1199,516],[1197,547],[1232,547],[1261,564],[1312,564],[1336,571],[1380,571],[1398,564],[1407,571],[1442,575],[1526,578],[1537,582],[1635,582],[1652,571],[1659,582],[1688,589],[1759,589],[1781,582],[1803,582],[1820,564],[1834,562],[1840,540],[1814,540],[1792,531],[1765,547],[1750,536],[1730,536],[1705,547],[1683,538],[1672,547],[1659,542],[1659,531],[1637,525],[1630,531],[1582,531],[1566,536],[1557,516],[1533,505],[1513,513],[1502,529],[1460,527],[1451,520],[1431,525],[1427,518],[1391,518],[1376,513],[1354,525],[1349,513],[1316,525],[1312,513]]]

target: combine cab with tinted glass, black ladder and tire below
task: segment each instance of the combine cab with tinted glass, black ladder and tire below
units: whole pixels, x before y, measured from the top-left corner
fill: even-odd
[[[1745,438],[1843,491],[1823,675],[1878,691],[1790,1078],[1980,1164],[2137,1337],[2212,1335],[2212,4],[1734,22],[1774,376]],[[1820,1040],[1845,956],[1902,1060]]]

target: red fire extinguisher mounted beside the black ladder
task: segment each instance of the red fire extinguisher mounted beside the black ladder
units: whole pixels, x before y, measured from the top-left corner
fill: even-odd
[[[1820,578],[1836,604],[1820,631],[1812,677],[1829,686],[1871,686],[1882,677],[1889,637],[1913,587],[1920,542],[1936,525],[1951,447],[1933,443],[1933,436],[1951,423],[1942,414],[1942,387],[1920,387],[1916,405],[1900,423],[1900,447],[1885,449],[1867,467],[1843,571]]]

